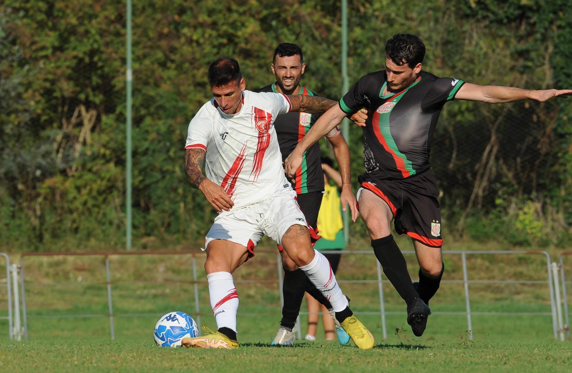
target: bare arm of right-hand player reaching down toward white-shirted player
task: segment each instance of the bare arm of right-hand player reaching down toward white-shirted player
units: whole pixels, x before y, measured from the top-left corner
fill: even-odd
[[[301,95],[299,95],[301,96]],[[342,119],[345,118],[345,113],[340,109],[337,102],[334,102],[334,106],[326,111],[304,138],[296,145],[296,148],[288,155],[288,158],[284,161],[284,170],[289,177],[293,177],[296,174],[296,170],[302,164],[302,155],[310,146],[316,141],[323,138],[325,134],[333,129],[333,127],[340,124]]]

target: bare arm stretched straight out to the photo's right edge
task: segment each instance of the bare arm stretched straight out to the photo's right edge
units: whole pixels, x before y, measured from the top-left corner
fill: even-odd
[[[455,95],[455,99],[468,101],[482,101],[488,103],[502,103],[521,100],[546,101],[547,99],[561,96],[566,98],[572,94],[569,89],[529,90],[503,86],[479,86],[464,83]]]

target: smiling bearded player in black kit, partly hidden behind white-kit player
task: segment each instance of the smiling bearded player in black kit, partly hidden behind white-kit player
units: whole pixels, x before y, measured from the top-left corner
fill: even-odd
[[[293,43],[281,43],[274,50],[272,58],[272,73],[276,77],[276,81],[268,86],[262,87],[256,92],[275,92],[285,95],[311,95],[314,93],[307,87],[300,85],[300,79],[304,74],[305,63],[302,50]],[[288,154],[296,147],[297,143],[304,137],[310,127],[316,123],[321,114],[308,113],[287,113],[280,114],[274,122],[274,128],[280,145],[283,161]],[[363,120],[366,115],[363,115]],[[349,149],[345,139],[340,133],[339,126],[335,126],[327,134],[329,142],[332,144],[333,153],[336,156],[337,164],[340,168],[341,178],[343,182],[340,199],[344,211],[346,203],[352,207],[352,218],[355,221],[358,218],[358,211],[355,208],[356,199],[353,195],[350,169],[349,169]],[[302,155],[302,162],[296,174],[293,175],[292,188],[297,193],[297,202],[300,210],[304,213],[308,224],[316,228],[318,211],[324,192],[324,173],[321,169],[320,162],[320,146],[315,143]],[[285,254],[279,247],[282,265],[284,268],[284,306],[282,308],[282,320],[280,328],[272,344],[292,344],[294,342],[294,333],[292,331],[295,326],[296,319],[300,313],[304,292],[308,291],[321,304],[324,304],[328,310],[332,310],[331,304],[319,290],[308,280],[307,276],[301,271],[296,264]],[[333,312],[333,311],[331,311]],[[333,319],[336,321],[335,317]],[[336,322],[337,337],[340,343],[345,344],[349,341],[349,336],[343,328]]]

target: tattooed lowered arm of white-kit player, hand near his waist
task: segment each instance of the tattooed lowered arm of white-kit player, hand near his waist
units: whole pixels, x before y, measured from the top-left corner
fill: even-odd
[[[200,148],[185,149],[186,181],[193,188],[200,189],[206,200],[217,211],[229,211],[235,204],[231,197],[223,188],[202,175],[202,161],[205,158],[205,153],[206,151]]]

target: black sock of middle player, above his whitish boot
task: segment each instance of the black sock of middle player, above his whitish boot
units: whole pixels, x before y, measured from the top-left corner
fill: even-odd
[[[292,330],[296,324],[296,319],[300,314],[300,307],[302,306],[302,299],[304,299],[306,279],[306,274],[300,268],[295,271],[284,270],[284,282],[282,284],[284,306],[282,307],[280,326]]]

